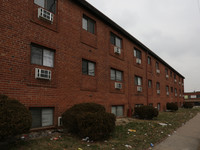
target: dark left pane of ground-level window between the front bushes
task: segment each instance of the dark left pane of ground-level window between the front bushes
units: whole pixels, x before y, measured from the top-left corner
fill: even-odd
[[[32,116],[32,128],[41,127],[41,110],[40,108],[31,108],[30,109]]]

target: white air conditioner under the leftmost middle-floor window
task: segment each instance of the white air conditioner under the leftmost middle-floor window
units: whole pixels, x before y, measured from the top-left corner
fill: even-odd
[[[35,78],[51,80],[51,71],[35,68]]]

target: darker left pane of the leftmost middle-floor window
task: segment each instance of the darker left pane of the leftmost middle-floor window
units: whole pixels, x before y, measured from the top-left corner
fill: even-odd
[[[42,49],[35,46],[31,47],[31,63],[42,65]]]

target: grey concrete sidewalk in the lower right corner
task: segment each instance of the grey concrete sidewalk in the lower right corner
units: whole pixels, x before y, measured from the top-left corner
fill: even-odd
[[[153,150],[200,150],[200,113]]]

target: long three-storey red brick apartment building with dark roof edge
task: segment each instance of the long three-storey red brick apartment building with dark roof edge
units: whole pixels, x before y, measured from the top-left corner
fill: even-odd
[[[0,94],[25,104],[33,128],[82,102],[116,116],[183,103],[184,77],[84,0],[2,0],[0,18]]]

